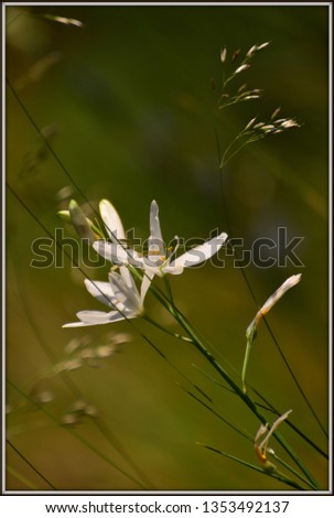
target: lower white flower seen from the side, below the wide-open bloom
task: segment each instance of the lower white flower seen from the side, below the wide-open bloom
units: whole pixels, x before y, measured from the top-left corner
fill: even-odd
[[[126,267],[120,267],[120,274],[116,271],[109,273],[109,282],[85,279],[85,285],[95,299],[112,307],[112,310],[109,312],[79,311],[76,314],[79,322],[72,322],[63,325],[63,327],[110,324],[141,316],[143,313],[143,299],[150,283],[148,280],[142,282],[141,292],[139,293],[131,273]]]

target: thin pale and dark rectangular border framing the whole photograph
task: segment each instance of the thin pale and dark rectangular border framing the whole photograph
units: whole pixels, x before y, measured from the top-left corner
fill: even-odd
[[[98,7],[98,6],[110,6],[110,7],[236,7],[236,6],[254,6],[254,7],[284,7],[284,6],[305,6],[305,7],[327,7],[328,8],[328,420],[330,420],[330,463],[328,463],[328,490],[321,490],[321,492],[239,492],[239,490],[213,490],[213,492],[196,492],[196,490],[150,490],[150,492],[142,492],[142,490],[107,490],[107,492],[86,492],[86,490],[60,490],[60,492],[15,492],[15,490],[7,490],[6,489],[6,9],[7,7],[34,7],[34,6],[60,6],[60,7]],[[332,290],[332,261],[333,261],[333,240],[332,240],[332,222],[333,222],[333,197],[332,197],[332,175],[333,175],[333,150],[332,150],[332,142],[333,142],[333,121],[332,121],[332,95],[333,95],[333,82],[332,82],[332,45],[333,45],[333,37],[332,37],[332,2],[3,2],[2,3],[2,177],[1,177],[1,185],[2,185],[2,239],[1,239],[1,251],[2,251],[2,293],[1,293],[1,302],[2,302],[2,379],[3,379],[3,387],[2,387],[2,481],[1,481],[1,490],[3,495],[30,495],[30,496],[37,496],[37,495],[144,495],[144,496],[152,496],[152,495],[175,495],[175,496],[183,496],[183,495],[258,495],[258,496],[266,496],[267,495],[332,495],[333,494],[333,353],[331,345],[333,344],[333,323],[332,323],[332,314],[333,314],[333,290]]]

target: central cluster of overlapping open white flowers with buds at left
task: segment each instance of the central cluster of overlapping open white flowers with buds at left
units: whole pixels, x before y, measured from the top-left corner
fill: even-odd
[[[85,218],[78,205],[73,201],[69,203],[68,219],[80,236],[89,236],[89,242],[93,244],[94,249],[112,265],[108,282],[85,279],[87,291],[107,305],[109,311],[79,311],[78,321],[65,324],[63,327],[109,324],[141,316],[144,313],[143,301],[154,276],[180,274],[184,268],[201,265],[216,253],[227,238],[227,235],[222,233],[177,258],[174,257],[177,246],[173,253],[169,255],[162,239],[158,203],[153,201],[150,208],[149,249],[148,255],[142,256],[127,246],[121,219],[111,203],[103,199],[99,211],[108,239],[91,239],[91,222]],[[101,236],[100,233],[99,236]],[[177,237],[175,239],[179,241]],[[140,289],[136,285],[131,268],[138,268],[143,273]]]

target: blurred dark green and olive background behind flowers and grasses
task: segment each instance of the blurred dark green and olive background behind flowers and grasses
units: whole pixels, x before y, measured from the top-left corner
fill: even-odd
[[[206,239],[211,230],[227,230],[216,130],[224,150],[252,117],[263,120],[279,106],[282,117],[295,117],[302,123],[298,130],[240,152],[224,172],[224,188],[234,235],[245,239],[246,248],[258,237],[277,240],[279,227],[287,227],[288,239],[304,238],[297,249],[303,268],[288,262],[281,268],[249,266],[245,271],[259,303],[289,276],[302,273],[301,283],[272,310],[268,322],[324,427],[328,403],[327,11],[314,4],[6,9],[11,85],[35,125],[51,128],[54,152],[91,204],[97,207],[99,199],[110,199],[126,228],[136,227],[143,239],[153,198],[160,206],[165,240],[175,234]],[[79,20],[84,26],[45,19],[45,14]],[[245,54],[266,41],[270,46],[236,82],[262,88],[263,99],[217,116],[217,90],[213,91],[211,83],[214,78],[219,88],[220,47],[227,46],[230,58],[237,48]],[[10,88],[6,109],[7,180],[53,234],[64,227],[56,216],[66,206],[63,187],[71,186],[71,196],[78,203],[85,199],[55,158],[45,152]],[[77,311],[104,307],[86,292],[83,276],[65,258],[63,268],[31,268],[31,244],[45,233],[11,192],[6,202],[7,374],[11,382],[25,393],[51,391],[53,400],[45,409],[60,421],[84,397],[140,466],[149,488],[285,489],[266,475],[196,445],[208,444],[257,463],[251,443],[182,390],[180,386],[194,391],[128,323],[62,328],[75,320]],[[75,236],[68,226],[65,235]],[[88,274],[105,280],[106,272],[90,269]],[[155,282],[160,284],[159,279]],[[240,371],[245,331],[257,306],[233,258],[227,258],[226,268],[208,263],[172,278],[171,283],[187,319]],[[150,294],[147,306],[163,325],[177,331]],[[247,408],[193,367],[214,376],[193,348],[141,321],[133,323],[209,395],[225,419],[256,434],[259,423]],[[120,346],[119,354],[100,361],[99,368],[83,366],[67,373],[80,395],[61,376],[35,385],[41,373],[64,358],[72,338],[89,335],[94,344],[106,343],[110,331],[131,333],[132,338]],[[265,325],[247,376],[282,412],[293,409],[291,421],[326,450],[326,440]],[[67,429],[29,408],[12,386],[8,386],[7,399],[11,444],[56,489],[140,488],[72,433],[134,474],[91,419]],[[273,417],[268,413],[268,419]],[[288,427],[281,431],[326,488],[323,457]],[[285,458],[274,441],[272,446]],[[11,446],[7,465],[8,489],[50,488]]]

